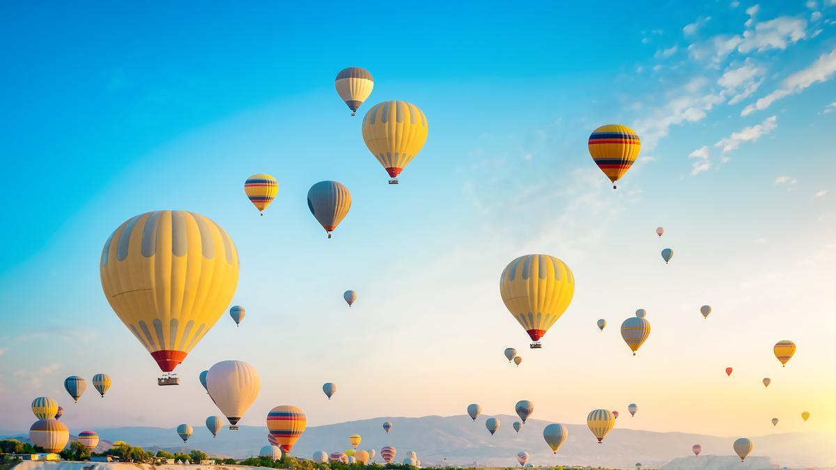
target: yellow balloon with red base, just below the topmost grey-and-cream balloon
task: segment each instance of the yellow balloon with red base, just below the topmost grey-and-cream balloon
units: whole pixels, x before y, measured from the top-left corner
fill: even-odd
[[[398,184],[400,171],[418,155],[426,141],[426,115],[405,101],[384,101],[363,118],[363,140],[372,155]]]

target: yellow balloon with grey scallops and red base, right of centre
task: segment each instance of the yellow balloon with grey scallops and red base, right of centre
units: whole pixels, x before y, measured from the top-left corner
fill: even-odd
[[[499,293],[508,311],[540,347],[546,331],[572,302],[574,277],[569,267],[546,254],[521,256],[505,267]]]

